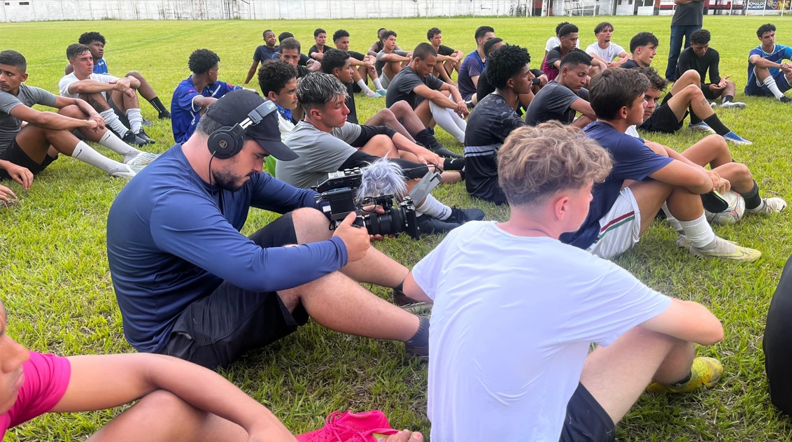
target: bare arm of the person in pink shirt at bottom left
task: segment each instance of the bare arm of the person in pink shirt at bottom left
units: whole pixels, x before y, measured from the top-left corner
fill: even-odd
[[[199,410],[216,414],[245,429],[249,436],[295,440],[260,403],[223,376],[170,356],[132,353],[71,356],[69,387],[51,410],[56,413],[103,410],[169,391]]]

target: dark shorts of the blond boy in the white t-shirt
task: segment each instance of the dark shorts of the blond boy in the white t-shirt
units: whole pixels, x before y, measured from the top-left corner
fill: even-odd
[[[616,426],[600,402],[577,383],[577,390],[566,405],[566,419],[560,442],[610,442],[616,437]]]

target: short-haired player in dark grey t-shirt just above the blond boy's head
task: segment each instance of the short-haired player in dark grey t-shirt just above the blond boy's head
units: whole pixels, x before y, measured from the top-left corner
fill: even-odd
[[[588,82],[591,57],[582,51],[570,51],[561,61],[561,75],[539,90],[525,112],[525,123],[535,126],[549,120],[572,124],[584,128],[596,120],[592,107],[588,105]],[[581,117],[575,120],[577,112]]]

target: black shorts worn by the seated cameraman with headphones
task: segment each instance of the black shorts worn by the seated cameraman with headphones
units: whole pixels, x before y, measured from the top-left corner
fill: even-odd
[[[250,239],[261,247],[296,244],[291,213]],[[181,313],[160,352],[206,368],[225,368],[248,350],[271,344],[307,321],[302,305],[288,311],[275,291],[248,291],[225,281]]]

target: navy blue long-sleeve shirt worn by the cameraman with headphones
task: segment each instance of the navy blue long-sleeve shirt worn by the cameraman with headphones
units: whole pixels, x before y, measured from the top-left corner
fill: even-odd
[[[341,238],[262,248],[239,232],[250,207],[286,213],[314,207],[314,194],[267,173],[233,192],[210,186],[181,144],[147,166],[116,197],[107,221],[112,284],[130,344],[141,352],[162,349],[178,315],[223,280],[277,291],[346,265]]]

